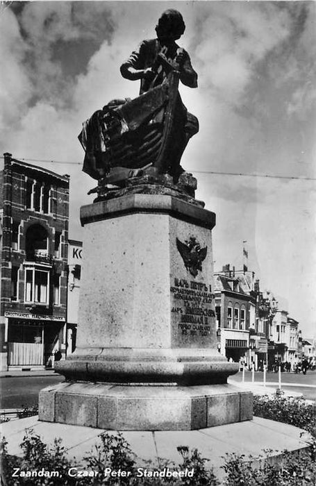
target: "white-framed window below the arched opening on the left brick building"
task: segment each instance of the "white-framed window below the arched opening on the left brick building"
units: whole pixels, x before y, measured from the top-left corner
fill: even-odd
[[[26,269],[25,302],[49,303],[49,272],[39,269]]]

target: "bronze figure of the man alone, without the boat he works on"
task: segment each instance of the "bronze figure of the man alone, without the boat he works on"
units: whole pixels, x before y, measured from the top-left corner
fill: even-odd
[[[166,10],[156,26],[157,38],[143,40],[138,49],[133,51],[131,56],[123,62],[121,66],[122,76],[131,81],[140,79],[140,94],[163,83],[167,76],[166,69],[156,69],[159,53],[163,53],[170,69],[180,72],[180,81],[184,85],[197,87],[197,73],[191,65],[190,56],[175,42],[184,31],[185,23],[181,13],[173,9]],[[176,137],[174,143],[173,160],[169,167],[169,174],[173,176],[174,181],[177,181],[178,176],[184,172],[180,160],[185,146],[190,137],[199,131],[197,117],[188,112],[179,94],[176,104],[176,124],[179,127],[178,137]]]

